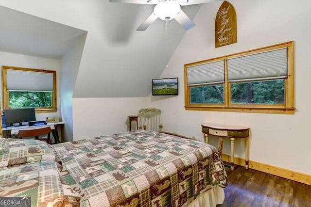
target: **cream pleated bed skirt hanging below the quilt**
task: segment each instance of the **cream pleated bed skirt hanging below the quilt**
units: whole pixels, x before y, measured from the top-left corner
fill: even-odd
[[[188,207],[216,207],[217,204],[224,203],[225,191],[223,188],[216,186],[196,197]]]

